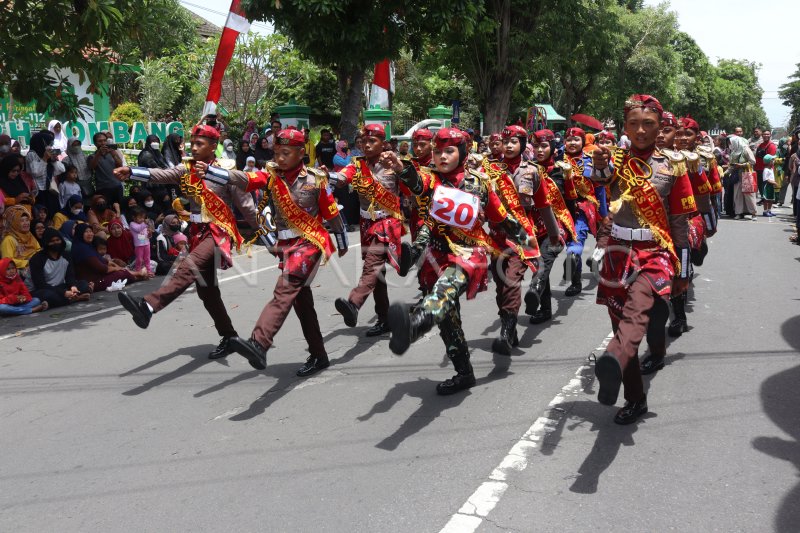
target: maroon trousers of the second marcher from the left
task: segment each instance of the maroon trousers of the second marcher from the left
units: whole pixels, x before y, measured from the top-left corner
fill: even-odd
[[[303,336],[308,342],[311,357],[327,359],[322,332],[319,329],[317,312],[314,309],[314,296],[308,283],[311,278],[303,279],[296,276],[282,275],[275,284],[272,300],[264,306],[261,316],[253,328],[253,338],[265,348],[272,347],[275,335],[281,329],[289,311],[294,307]]]

